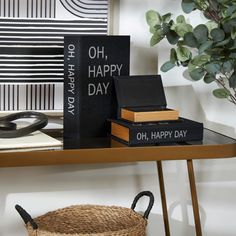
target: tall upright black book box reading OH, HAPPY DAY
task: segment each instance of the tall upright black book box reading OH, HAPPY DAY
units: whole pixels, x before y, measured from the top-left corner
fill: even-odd
[[[129,75],[130,37],[64,39],[64,148],[80,148],[110,133],[116,117],[113,76]]]

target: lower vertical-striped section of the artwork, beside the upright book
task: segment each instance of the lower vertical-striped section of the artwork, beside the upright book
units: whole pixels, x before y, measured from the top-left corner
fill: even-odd
[[[61,84],[0,84],[0,111],[61,110]]]

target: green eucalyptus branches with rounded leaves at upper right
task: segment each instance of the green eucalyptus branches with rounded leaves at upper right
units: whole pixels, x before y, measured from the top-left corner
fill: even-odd
[[[194,27],[183,15],[172,19],[171,13],[146,13],[152,34],[150,45],[163,39],[173,45],[161,71],[187,67],[192,80],[217,83],[214,96],[236,105],[236,0],[182,0],[181,6],[187,14],[201,11],[206,23]]]

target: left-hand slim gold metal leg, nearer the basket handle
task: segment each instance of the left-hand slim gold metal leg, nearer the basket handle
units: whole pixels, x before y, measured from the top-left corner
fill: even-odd
[[[170,236],[170,225],[169,225],[169,219],[168,219],[165,184],[164,184],[164,176],[163,176],[161,161],[157,161],[157,169],[158,169],[158,177],[159,177],[159,185],[160,185],[161,203],[162,203],[162,212],[163,212],[165,232],[166,232],[166,236]]]

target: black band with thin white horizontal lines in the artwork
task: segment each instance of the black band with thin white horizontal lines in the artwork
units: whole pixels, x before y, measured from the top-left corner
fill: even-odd
[[[63,82],[63,46],[0,46],[0,82]]]

